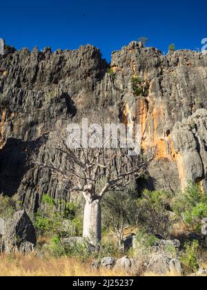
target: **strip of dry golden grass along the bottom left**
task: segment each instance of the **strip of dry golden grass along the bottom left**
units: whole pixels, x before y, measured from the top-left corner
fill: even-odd
[[[106,269],[92,271],[75,258],[39,259],[30,255],[0,255],[0,276],[125,276]]]

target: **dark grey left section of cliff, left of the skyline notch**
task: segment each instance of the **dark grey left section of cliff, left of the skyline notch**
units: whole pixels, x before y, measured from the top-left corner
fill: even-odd
[[[67,198],[68,191],[49,172],[30,170],[30,151],[51,126],[70,122],[77,109],[105,101],[95,86],[104,77],[106,62],[92,46],[54,54],[34,49],[1,56],[0,72],[0,193],[18,193],[23,206],[34,211],[42,194]]]

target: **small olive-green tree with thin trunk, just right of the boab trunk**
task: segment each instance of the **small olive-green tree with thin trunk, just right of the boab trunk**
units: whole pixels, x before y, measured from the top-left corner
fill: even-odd
[[[103,222],[117,236],[119,247],[124,231],[137,224],[136,194],[133,189],[108,193],[103,198]]]

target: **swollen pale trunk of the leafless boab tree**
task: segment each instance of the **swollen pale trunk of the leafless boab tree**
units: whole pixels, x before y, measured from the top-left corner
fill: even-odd
[[[83,216],[83,238],[86,238],[91,244],[101,242],[100,200],[86,199]]]

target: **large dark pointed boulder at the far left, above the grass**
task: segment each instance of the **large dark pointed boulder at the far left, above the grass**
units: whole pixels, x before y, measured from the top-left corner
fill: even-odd
[[[35,229],[26,211],[14,213],[4,226],[3,251],[30,253],[36,242]]]

